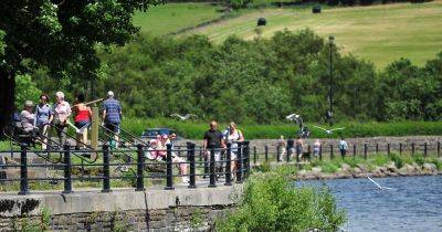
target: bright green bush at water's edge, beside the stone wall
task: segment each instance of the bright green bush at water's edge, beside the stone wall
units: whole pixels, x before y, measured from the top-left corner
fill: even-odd
[[[326,188],[294,187],[282,175],[253,175],[243,191],[217,231],[337,231],[346,221]]]

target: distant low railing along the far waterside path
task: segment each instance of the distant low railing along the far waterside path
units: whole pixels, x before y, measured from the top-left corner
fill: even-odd
[[[329,158],[334,159],[336,156],[340,156],[340,149],[338,144],[328,144],[320,145],[317,147],[316,151],[314,150],[314,146],[308,144],[303,146],[302,149],[296,149],[295,143],[293,139],[287,140],[286,147],[277,147],[277,146],[264,146],[263,151],[257,152],[257,148],[255,146],[253,148],[253,165],[257,164],[257,161],[276,161],[276,162],[291,162],[296,161],[299,162],[302,159],[311,159],[311,158]],[[438,157],[441,156],[441,141],[436,143],[422,143],[422,144],[362,144],[357,145],[352,144],[348,146],[346,150],[346,156],[361,156],[367,159],[371,155],[386,154],[390,155],[392,152],[397,152],[399,155],[409,154],[411,156],[422,155],[424,157],[429,156],[430,152],[435,154]],[[299,156],[301,155],[301,156]]]

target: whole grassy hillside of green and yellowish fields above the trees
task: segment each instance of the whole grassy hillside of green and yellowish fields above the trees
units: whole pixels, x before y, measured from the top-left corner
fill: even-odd
[[[135,23],[141,27],[141,32],[167,34],[220,18],[219,8],[207,3],[169,3],[136,14]],[[422,65],[442,51],[442,1],[326,8],[320,14],[299,7],[249,9],[236,14],[186,34],[202,33],[217,43],[232,34],[251,40],[256,36],[257,18],[264,17],[267,25],[262,28],[261,36],[284,29],[311,28],[324,38],[335,35],[341,51],[370,60],[378,67],[399,57]]]

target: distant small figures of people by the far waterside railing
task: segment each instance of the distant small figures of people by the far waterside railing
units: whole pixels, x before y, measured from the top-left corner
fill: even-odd
[[[280,139],[276,141],[276,149],[277,149],[277,155],[280,157],[278,158],[280,160],[284,159],[284,155],[286,154],[286,146],[287,146],[287,144],[284,139],[284,136],[281,135]],[[304,146],[305,145],[304,145],[303,138],[301,136],[297,136],[296,140],[294,141],[294,148],[293,148],[293,150],[291,150],[291,154],[292,154],[291,158],[296,158],[296,157],[298,159],[306,158],[306,157],[304,157],[306,155],[304,152]],[[316,158],[319,157],[322,146],[323,145],[322,145],[320,140],[316,139],[315,143],[313,144],[313,156],[314,157],[316,157]],[[338,148],[339,148],[340,156],[344,159],[345,156],[347,155],[347,150],[348,150],[348,144],[344,137],[340,138]]]

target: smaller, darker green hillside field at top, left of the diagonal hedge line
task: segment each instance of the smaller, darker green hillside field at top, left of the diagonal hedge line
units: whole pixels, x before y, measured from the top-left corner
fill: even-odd
[[[209,3],[167,3],[136,13],[134,23],[141,33],[162,35],[218,19],[222,14],[218,10]]]

